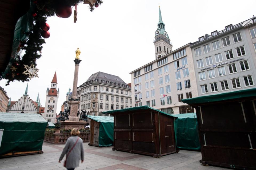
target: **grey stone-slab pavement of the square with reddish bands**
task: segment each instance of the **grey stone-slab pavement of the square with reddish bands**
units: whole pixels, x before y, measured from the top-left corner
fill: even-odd
[[[76,170],[222,170],[226,168],[203,166],[199,163],[201,152],[180,150],[177,154],[153,158],[152,156],[113,151],[111,147],[94,147],[84,143],[85,160]],[[0,159],[0,169],[48,170],[65,169],[62,160],[58,163],[64,145],[43,143],[43,154]]]

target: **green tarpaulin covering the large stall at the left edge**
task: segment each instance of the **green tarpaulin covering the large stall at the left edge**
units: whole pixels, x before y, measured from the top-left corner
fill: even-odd
[[[39,114],[0,112],[0,129],[4,129],[0,155],[42,150],[46,126]]]

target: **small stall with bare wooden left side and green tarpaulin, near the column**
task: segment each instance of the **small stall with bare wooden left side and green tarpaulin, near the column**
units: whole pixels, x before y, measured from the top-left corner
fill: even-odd
[[[89,116],[90,142],[92,146],[113,146],[114,143],[114,117],[110,116]]]

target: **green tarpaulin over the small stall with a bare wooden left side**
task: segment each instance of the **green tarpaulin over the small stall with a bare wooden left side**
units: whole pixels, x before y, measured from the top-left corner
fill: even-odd
[[[114,144],[114,117],[111,116],[89,116],[90,119],[100,122],[99,124],[99,146],[113,146]]]

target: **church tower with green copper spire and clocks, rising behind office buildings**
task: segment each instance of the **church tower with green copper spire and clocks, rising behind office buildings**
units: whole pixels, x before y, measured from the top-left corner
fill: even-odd
[[[165,31],[165,24],[162,21],[161,10],[159,6],[159,22],[157,31],[155,31],[155,59],[162,57],[173,50],[173,45],[170,43],[169,36]]]

